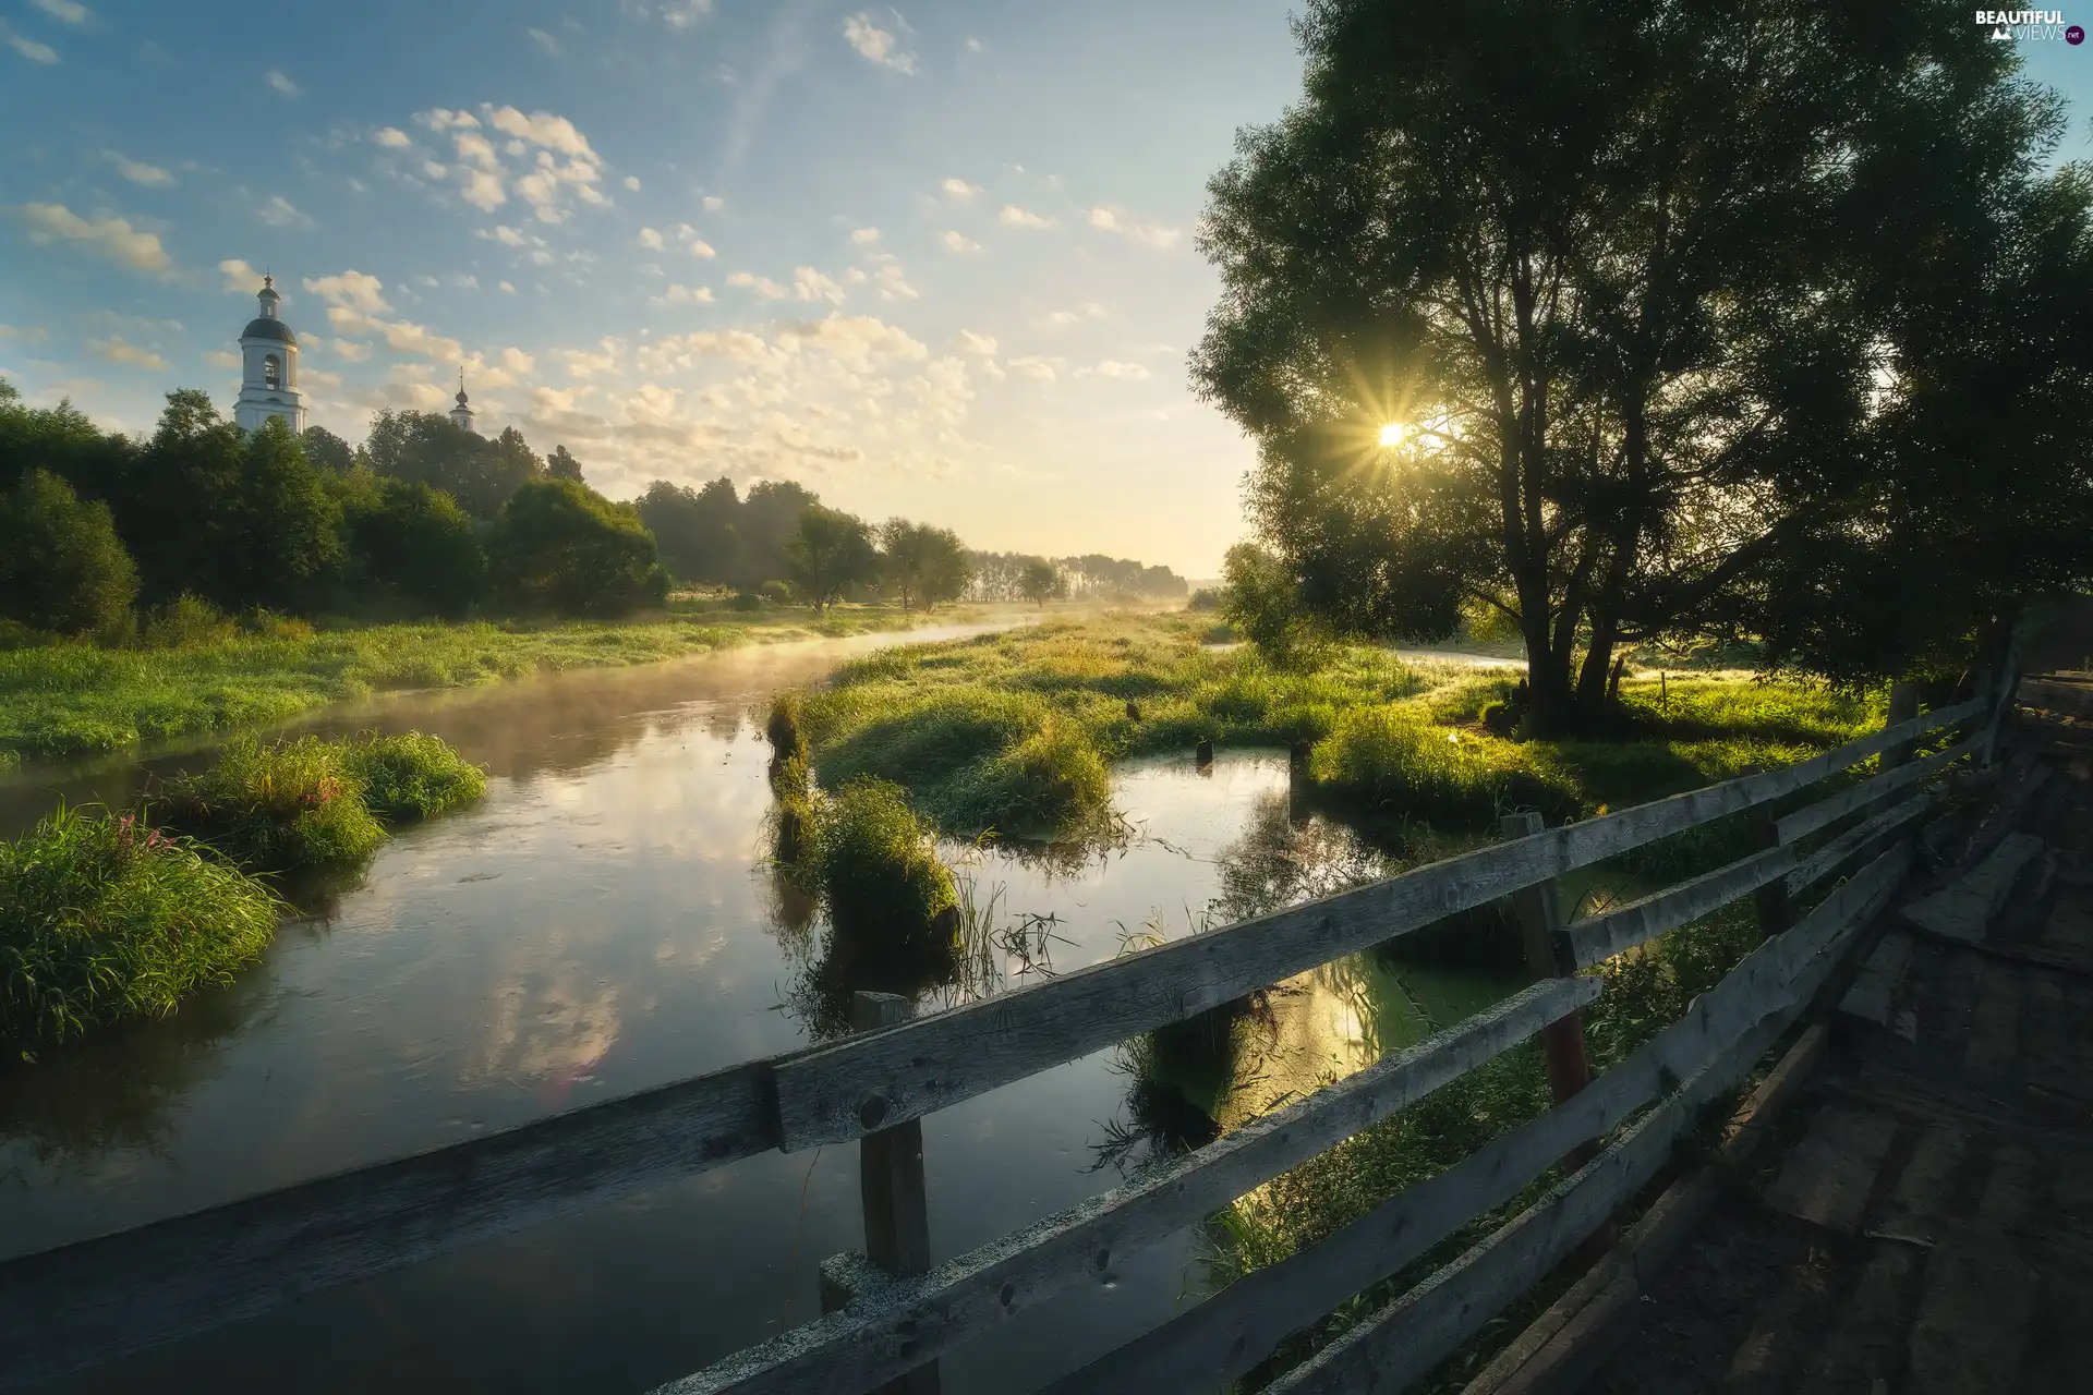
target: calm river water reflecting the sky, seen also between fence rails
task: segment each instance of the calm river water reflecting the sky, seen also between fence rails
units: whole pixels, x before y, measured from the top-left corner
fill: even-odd
[[[919,630],[908,642],[952,632]],[[299,730],[429,730],[490,770],[473,809],[408,828],[360,876],[299,895],[237,983],[159,1023],[0,1067],[0,1257],[425,1150],[789,1050],[823,1027],[823,929],[764,847],[764,699],[877,636],[504,688],[408,694]],[[0,830],[123,803],[203,751],[0,784]],[[1044,929],[1046,973],[1302,899],[1381,868],[1287,803],[1279,753],[1116,770],[1120,845],[948,847],[998,922]],[[992,991],[1028,958],[986,954]],[[1503,979],[1354,956],[1279,985],[1214,1060],[1136,1075],[1124,1050],[923,1121],[946,1259],[1122,1180],[1499,998]],[[640,1391],[818,1311],[820,1257],[858,1249],[854,1148],[762,1154],[452,1257],[303,1299],[52,1389]],[[1021,1391],[1199,1290],[1195,1234],[948,1355],[944,1389]]]

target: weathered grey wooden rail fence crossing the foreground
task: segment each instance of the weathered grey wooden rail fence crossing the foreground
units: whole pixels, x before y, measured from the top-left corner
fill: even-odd
[[[843,1042],[8,1259],[0,1263],[0,1389],[253,1318],[756,1152],[858,1142],[871,1255],[823,1265],[825,1316],[663,1389],[933,1391],[940,1353],[1095,1282],[1116,1257],[1199,1224],[1538,1033],[1551,1113],[1049,1387],[1220,1385],[1568,1161],[1570,1175],[1538,1203],[1273,1387],[1398,1391],[1566,1255],[1603,1236],[1695,1111],[1739,1081],[1802,1012],[1903,881],[1905,834],[1938,795],[1932,776],[1972,755],[1988,759],[1995,694],[1984,680],[1978,694],[1913,715],[1900,692],[1882,732],[1798,765],[1561,828],[1513,816],[1505,841],[1490,847],[915,1021],[902,1021],[900,1000],[860,996],[856,1025],[867,1031]],[[1953,728],[1965,728],[1961,740],[1911,759],[1917,742]],[[1877,774],[1794,807],[1800,791],[1869,757],[1882,757]],[[1563,872],[1731,814],[1752,818],[1758,851],[1561,924],[1555,878]],[[1861,870],[1792,918],[1796,897],[1856,862]],[[1743,895],[1769,924],[1764,943],[1679,1023],[1586,1079],[1576,1012],[1601,993],[1601,979],[1578,970]],[[1528,989],[1118,1190],[929,1267],[923,1115],[1501,897],[1517,910],[1536,979]]]

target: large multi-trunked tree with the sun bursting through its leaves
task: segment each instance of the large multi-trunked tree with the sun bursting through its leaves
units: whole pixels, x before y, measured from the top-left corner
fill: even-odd
[[[1503,611],[1543,730],[1597,715],[1620,642],[1737,623],[1850,531],[1894,468],[1898,266],[2053,128],[1934,0],[1310,0],[1298,31],[1304,100],[1210,186],[1193,374],[1300,604]]]

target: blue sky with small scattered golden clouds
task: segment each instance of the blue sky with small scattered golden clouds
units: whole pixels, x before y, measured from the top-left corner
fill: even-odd
[[[1214,575],[1250,448],[1187,387],[1191,241],[1289,8],[0,0],[0,374],[230,408],[268,266],[352,441],[465,362],[613,496],[791,477]],[[2024,52],[2093,94],[2093,44]]]

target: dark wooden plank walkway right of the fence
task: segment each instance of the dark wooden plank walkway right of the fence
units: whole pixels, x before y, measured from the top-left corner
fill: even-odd
[[[1591,1395],[2093,1389],[2093,765],[1961,837]]]

